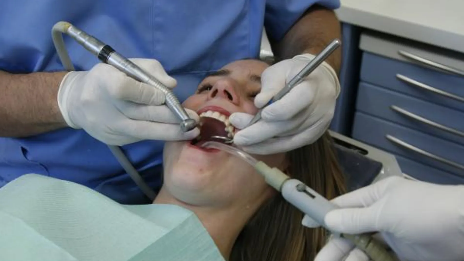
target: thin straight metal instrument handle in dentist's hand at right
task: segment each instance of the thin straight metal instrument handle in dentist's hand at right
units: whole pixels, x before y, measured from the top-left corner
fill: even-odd
[[[309,61],[306,66],[302,70],[300,70],[291,80],[288,82],[283,89],[281,89],[274,97],[272,97],[272,100],[269,101],[263,108],[261,108],[258,113],[251,119],[250,123],[248,123],[248,126],[255,124],[257,121],[261,119],[261,112],[263,109],[267,106],[269,106],[272,102],[276,102],[284,95],[286,95],[293,87],[298,85],[298,83],[301,83],[303,79],[308,76],[311,72],[316,70],[316,68],[322,64],[322,62],[329,57],[340,45],[342,42],[339,39],[334,39],[329,45],[327,45],[314,59]]]

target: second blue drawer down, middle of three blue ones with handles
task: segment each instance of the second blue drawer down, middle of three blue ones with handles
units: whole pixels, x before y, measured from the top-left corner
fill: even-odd
[[[464,144],[464,112],[360,83],[356,110]]]

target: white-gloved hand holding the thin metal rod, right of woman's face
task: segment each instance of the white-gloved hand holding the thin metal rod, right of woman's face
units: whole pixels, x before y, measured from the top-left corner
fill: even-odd
[[[255,106],[267,104],[314,57],[297,55],[264,70]],[[282,99],[264,108],[262,119],[250,127],[244,128],[253,115],[232,114],[229,121],[241,129],[234,143],[254,154],[287,152],[313,143],[328,129],[339,93],[335,70],[324,62]]]

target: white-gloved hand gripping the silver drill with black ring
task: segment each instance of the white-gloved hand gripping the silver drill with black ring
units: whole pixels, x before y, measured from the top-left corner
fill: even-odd
[[[169,88],[176,80],[153,59],[130,59]],[[69,127],[84,129],[108,145],[122,146],[140,140],[189,140],[194,129],[183,133],[180,120],[164,105],[155,87],[126,76],[111,65],[99,63],[90,71],[71,71],[58,90],[58,106]],[[198,120],[198,115],[186,109]]]

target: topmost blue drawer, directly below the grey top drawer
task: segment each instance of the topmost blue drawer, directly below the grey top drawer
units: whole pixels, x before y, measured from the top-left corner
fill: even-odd
[[[464,111],[464,77],[363,52],[361,80]]]

